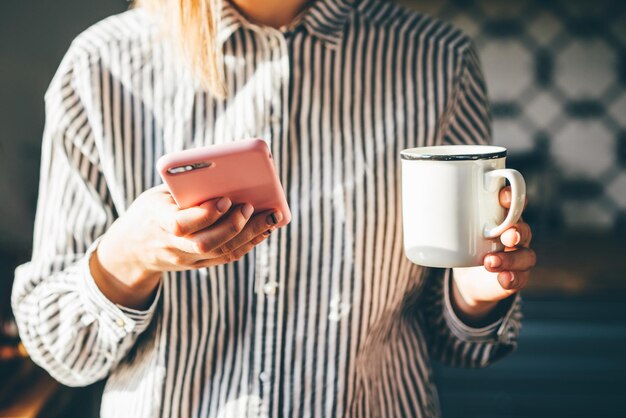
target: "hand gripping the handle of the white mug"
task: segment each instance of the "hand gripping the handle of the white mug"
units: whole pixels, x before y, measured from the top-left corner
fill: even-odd
[[[500,204],[510,207],[510,187],[500,191]],[[453,269],[453,305],[462,319],[479,322],[499,301],[526,287],[536,262],[531,239],[530,226],[520,219],[500,236],[504,251],[486,255],[483,266]]]

